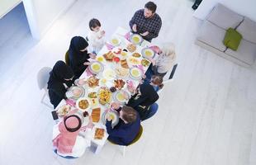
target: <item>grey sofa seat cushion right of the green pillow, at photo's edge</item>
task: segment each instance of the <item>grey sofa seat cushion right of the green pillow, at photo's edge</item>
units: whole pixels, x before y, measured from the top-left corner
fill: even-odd
[[[241,40],[238,50],[225,50],[225,54],[229,54],[235,59],[239,59],[247,64],[254,64],[256,57],[256,45],[247,40]]]

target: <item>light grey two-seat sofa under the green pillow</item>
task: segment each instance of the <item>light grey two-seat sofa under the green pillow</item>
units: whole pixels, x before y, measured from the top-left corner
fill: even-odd
[[[243,36],[236,51],[222,43],[229,27],[235,28]],[[256,59],[256,22],[218,3],[203,22],[196,44],[236,64],[249,67]]]

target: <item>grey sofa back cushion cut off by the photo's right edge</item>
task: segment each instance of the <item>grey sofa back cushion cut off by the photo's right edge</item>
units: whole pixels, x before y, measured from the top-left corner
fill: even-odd
[[[248,17],[244,17],[244,21],[237,27],[236,31],[239,31],[243,35],[244,40],[249,40],[256,44],[256,22],[250,20]]]

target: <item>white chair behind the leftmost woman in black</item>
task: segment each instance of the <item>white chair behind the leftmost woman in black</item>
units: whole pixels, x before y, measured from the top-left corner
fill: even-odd
[[[44,96],[41,99],[41,103],[49,107],[50,109],[54,109],[54,106],[45,102],[45,97],[48,97],[50,99],[47,89],[47,82],[49,81],[51,70],[52,68],[50,67],[41,68],[40,71],[37,73],[37,84],[40,90],[45,90]]]

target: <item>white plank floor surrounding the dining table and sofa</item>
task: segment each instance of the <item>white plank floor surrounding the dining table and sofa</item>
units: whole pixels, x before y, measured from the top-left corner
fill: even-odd
[[[75,160],[52,152],[54,121],[40,104],[36,73],[64,59],[69,40],[86,35],[90,18],[100,19],[109,37],[117,26],[128,28],[145,2],[79,0],[40,42],[31,39],[22,14],[10,19],[18,25],[0,31],[1,165],[256,164],[255,67],[239,67],[193,44],[201,21],[192,16],[192,0],[155,1],[163,27],[153,42],[173,41],[179,65],[175,81],[161,93],[158,113],[143,123],[143,136],[127,148],[126,157],[111,144]]]

